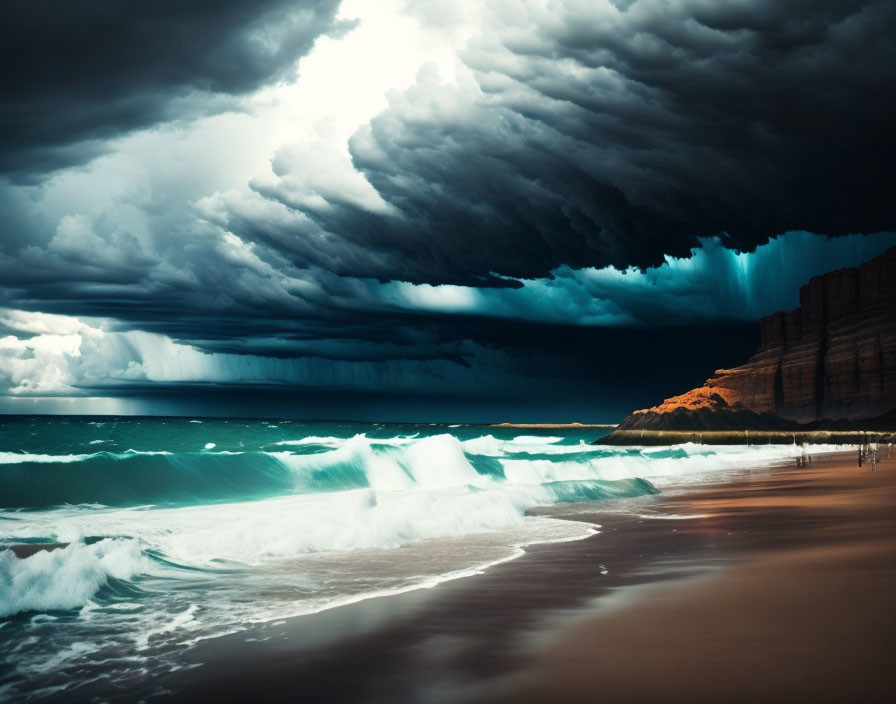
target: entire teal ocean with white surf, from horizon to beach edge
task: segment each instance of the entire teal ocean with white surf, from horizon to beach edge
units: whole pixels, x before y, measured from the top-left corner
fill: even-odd
[[[590,444],[604,432],[4,417],[0,699],[141,691],[200,640],[599,531],[539,507],[593,515],[801,452]]]

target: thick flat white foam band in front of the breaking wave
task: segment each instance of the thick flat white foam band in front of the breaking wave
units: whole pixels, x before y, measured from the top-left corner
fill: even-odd
[[[551,500],[543,487],[357,489],[155,510],[85,512],[71,507],[5,528],[20,539],[128,536],[186,565],[208,566],[216,560],[257,564],[272,557],[396,548],[416,540],[511,528],[522,524],[527,509]]]

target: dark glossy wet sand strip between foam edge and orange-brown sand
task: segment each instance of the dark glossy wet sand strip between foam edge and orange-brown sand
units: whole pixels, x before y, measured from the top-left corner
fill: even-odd
[[[647,507],[655,498],[621,501]],[[539,515],[561,517],[553,512]],[[460,692],[449,682],[455,679],[457,667],[472,675],[474,689],[490,689],[493,678],[519,666],[517,641],[528,638],[529,630],[546,614],[579,608],[595,591],[609,593],[633,581],[652,583],[677,576],[674,572],[665,577],[635,576],[649,556],[629,552],[641,521],[628,511],[602,513],[600,521],[593,514],[566,518],[592,520],[600,527],[582,539],[529,545],[519,557],[471,578],[368,598],[202,641],[190,653],[188,669],[162,681],[171,694],[148,700],[186,702],[212,697],[237,702],[266,687],[265,701],[292,701],[296,691],[311,701],[417,701],[429,697],[430,678],[435,678],[441,680],[437,688],[446,691],[436,701],[478,701],[478,693]],[[614,540],[617,544],[608,549],[611,534],[621,540]],[[615,554],[612,575],[606,574],[604,562],[587,559],[595,550]],[[618,573],[616,564],[623,565]],[[544,582],[546,571],[566,571],[571,565],[584,568],[576,569],[573,583]],[[701,563],[694,569],[705,568]],[[524,598],[508,602],[505,597],[511,595]],[[439,672],[432,672],[428,661],[441,660],[441,644],[451,641],[456,644],[446,654],[449,662],[436,663]],[[405,663],[410,651],[416,651],[422,661]],[[462,662],[450,662],[454,658]],[[418,681],[421,671],[428,672],[425,681]],[[346,679],[355,684],[346,689]],[[276,687],[266,684],[273,682]],[[421,686],[427,693],[420,691]]]

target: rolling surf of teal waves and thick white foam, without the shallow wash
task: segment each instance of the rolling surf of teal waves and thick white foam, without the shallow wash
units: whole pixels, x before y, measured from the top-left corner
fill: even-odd
[[[539,505],[644,496],[799,448],[605,448],[561,437],[308,436],[275,450],[0,453],[0,614],[83,606],[162,564],[216,570],[521,529]],[[572,525],[572,524],[570,524]],[[584,535],[581,529],[579,534]]]

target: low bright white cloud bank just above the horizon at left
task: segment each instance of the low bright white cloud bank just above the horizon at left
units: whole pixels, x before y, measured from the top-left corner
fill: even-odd
[[[205,352],[165,335],[109,329],[114,327],[109,320],[88,323],[20,310],[0,309],[0,323],[18,333],[0,338],[0,395],[90,396],[97,389],[126,389],[135,383],[413,390],[421,381],[451,378],[458,371],[447,360],[341,361]],[[372,347],[362,345],[367,355]],[[478,374],[466,373],[466,383],[475,385]]]

